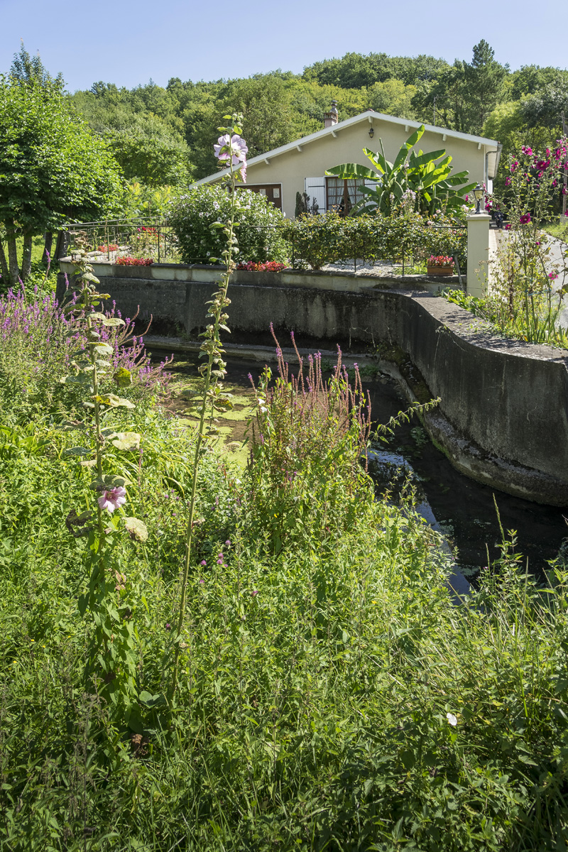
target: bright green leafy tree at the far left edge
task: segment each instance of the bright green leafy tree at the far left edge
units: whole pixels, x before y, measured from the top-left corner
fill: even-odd
[[[8,248],[6,258],[0,245],[0,264],[15,284],[30,273],[32,236],[66,217],[93,219],[108,210],[118,198],[120,169],[56,82],[0,77],[0,139],[0,223]]]

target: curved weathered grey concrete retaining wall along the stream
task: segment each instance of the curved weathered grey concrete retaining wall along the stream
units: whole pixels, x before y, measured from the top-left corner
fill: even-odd
[[[66,262],[61,268],[72,271]],[[205,324],[219,272],[100,264],[95,274],[123,316],[140,305],[158,330],[177,326],[193,336]],[[394,358],[392,369],[409,395],[420,398],[416,389],[425,384],[440,397],[425,423],[458,469],[525,498],[568,505],[568,352],[496,337],[462,308],[411,289],[425,283],[440,286],[349,273],[239,272],[228,291],[229,325],[250,343],[268,342],[273,322],[283,342],[293,330],[304,345],[360,351],[382,344],[387,359],[388,347],[403,350],[408,360]],[[58,296],[64,290],[61,275]]]

